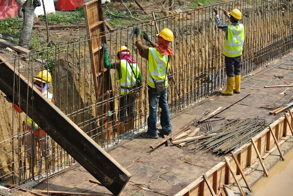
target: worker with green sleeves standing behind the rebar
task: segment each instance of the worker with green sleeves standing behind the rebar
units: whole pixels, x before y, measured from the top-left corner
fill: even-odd
[[[104,48],[104,67],[106,69],[116,69],[116,81],[120,84],[119,134],[123,134],[125,130],[128,131],[134,128],[135,98],[137,93],[139,93],[138,87],[140,87],[142,82],[142,75],[136,61],[130,56],[130,50],[126,46],[121,46],[117,50],[117,61],[115,63],[109,63],[107,44],[102,44],[102,47]],[[127,120],[125,119],[126,111],[129,116]]]

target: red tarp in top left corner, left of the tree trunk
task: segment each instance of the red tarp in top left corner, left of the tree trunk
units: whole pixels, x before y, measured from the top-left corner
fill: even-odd
[[[15,0],[0,0],[0,19],[18,16],[19,7]]]

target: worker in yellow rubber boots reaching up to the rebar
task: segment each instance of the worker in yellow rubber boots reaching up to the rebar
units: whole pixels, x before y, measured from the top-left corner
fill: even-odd
[[[214,8],[214,12],[216,14],[215,21],[217,27],[226,33],[222,53],[225,56],[227,89],[221,90],[220,93],[223,95],[233,95],[233,92],[240,93],[241,83],[240,64],[245,39],[244,26],[239,22],[239,20],[241,20],[241,12],[238,9],[233,9],[230,13],[228,13],[226,9],[223,9],[224,15],[230,19],[230,25],[223,24],[220,21],[217,8]]]

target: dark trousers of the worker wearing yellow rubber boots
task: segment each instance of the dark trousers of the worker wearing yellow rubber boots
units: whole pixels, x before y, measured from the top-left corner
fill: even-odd
[[[241,56],[239,57],[226,57],[225,56],[225,65],[226,65],[226,74],[228,77],[232,78],[234,75],[241,74]]]

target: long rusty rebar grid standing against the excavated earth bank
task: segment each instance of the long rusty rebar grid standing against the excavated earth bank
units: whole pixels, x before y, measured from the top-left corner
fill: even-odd
[[[292,4],[293,0],[239,0],[218,4],[218,7],[238,8],[242,12],[241,22],[245,26],[246,35],[241,65],[242,75],[249,75],[292,51]],[[282,13],[283,7],[286,10],[285,13]],[[228,19],[222,12],[220,12],[220,18],[223,23],[228,23]],[[138,26],[146,31],[153,41],[157,41],[155,36],[157,32],[153,22],[133,24],[92,37],[85,36],[68,43],[44,48],[40,52],[16,57],[9,62],[31,83],[34,82],[33,78],[39,71],[49,69],[53,76],[50,92],[55,95],[59,109],[99,145],[108,148],[116,145],[121,139],[131,137],[139,128],[146,128],[148,116],[147,61],[138,54],[134,46],[135,38],[130,37],[130,33],[134,26]],[[171,115],[173,115],[194,105],[200,99],[225,85],[225,64],[221,54],[225,35],[215,25],[213,6],[167,16],[156,22],[159,30],[168,27],[175,36],[174,42],[170,44],[174,51],[174,55],[170,58],[172,72],[168,73],[168,103]],[[116,120],[120,112],[120,84],[115,81],[116,71],[110,71],[112,80],[109,85],[112,85],[113,91],[99,95],[101,101],[96,101],[91,67],[93,60],[90,56],[88,41],[99,41],[100,36],[106,37],[111,62],[115,62],[118,48],[126,45],[143,75],[144,86],[135,102],[134,128],[132,127],[123,134],[120,134]],[[146,44],[145,41],[143,43]],[[36,59],[41,59],[42,63],[37,62]],[[103,80],[98,84],[98,88],[104,88],[106,82],[110,83],[110,80]],[[109,95],[109,93],[113,94],[112,98],[104,99],[105,95]],[[27,97],[28,101],[33,102]],[[116,116],[113,118],[113,122],[109,122],[109,118],[105,117],[108,110],[105,111],[102,107],[111,102],[114,105],[114,110],[111,110],[112,115]],[[75,164],[67,152],[48,138],[44,142],[51,143],[53,167],[48,166],[48,161],[51,159],[47,154],[48,149],[45,150],[45,157],[41,156],[38,149],[35,152],[37,161],[34,162],[34,169],[31,172],[25,155],[29,149],[25,146],[26,137],[24,135],[32,134],[36,130],[27,131],[22,125],[24,115],[15,111],[13,107],[11,108],[12,118],[7,120],[11,133],[0,141],[0,149],[2,149],[0,177],[2,179],[11,179],[13,184],[20,186],[27,184],[30,179],[41,179]],[[160,111],[158,111],[159,115]],[[33,116],[30,117],[33,119]],[[101,119],[105,119],[105,122]],[[105,126],[110,123],[113,125],[112,127]],[[208,129],[212,129],[211,125]],[[35,142],[32,144],[32,148],[35,147],[34,145],[37,146]]]

